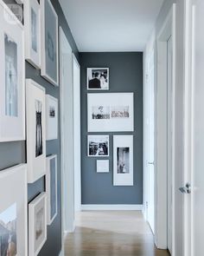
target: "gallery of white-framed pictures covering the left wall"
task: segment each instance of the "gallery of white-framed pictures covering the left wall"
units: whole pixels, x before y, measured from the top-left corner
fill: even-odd
[[[0,0],[0,142],[26,140],[27,163],[0,172],[0,255],[35,256],[58,212],[57,155],[46,157],[46,141],[58,138],[58,100],[25,80],[25,60],[59,85],[58,17],[50,0],[16,2],[24,24]],[[45,191],[28,207],[28,183],[42,176]]]

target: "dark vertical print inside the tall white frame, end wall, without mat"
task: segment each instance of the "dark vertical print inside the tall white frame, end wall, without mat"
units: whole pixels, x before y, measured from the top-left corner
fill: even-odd
[[[130,173],[130,148],[117,148],[118,174]]]

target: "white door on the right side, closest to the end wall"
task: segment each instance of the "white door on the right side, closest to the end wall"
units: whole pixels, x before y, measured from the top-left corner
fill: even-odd
[[[147,220],[155,233],[155,76],[154,51],[148,63],[148,206]]]

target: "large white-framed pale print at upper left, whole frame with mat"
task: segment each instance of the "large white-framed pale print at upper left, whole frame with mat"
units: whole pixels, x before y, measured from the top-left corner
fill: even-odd
[[[0,1],[0,142],[25,140],[25,64],[22,23]]]

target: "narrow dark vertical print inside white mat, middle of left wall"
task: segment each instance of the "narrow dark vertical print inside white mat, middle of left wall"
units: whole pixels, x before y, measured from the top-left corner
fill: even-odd
[[[41,108],[42,103],[35,100],[35,157],[38,157],[42,154]]]

